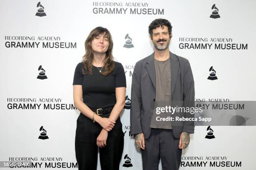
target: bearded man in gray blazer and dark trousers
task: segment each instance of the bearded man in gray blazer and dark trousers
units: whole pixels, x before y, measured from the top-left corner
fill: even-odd
[[[182,149],[189,144],[194,124],[159,121],[172,114],[159,114],[156,107],[166,103],[173,107],[195,107],[194,79],[189,61],[169,51],[171,23],[156,19],[149,25],[148,32],[154,53],[138,61],[134,67],[131,134],[135,135],[136,146],[141,148],[143,170],[158,170],[160,157],[163,170],[178,170]],[[189,112],[174,113],[175,116],[193,117]]]

